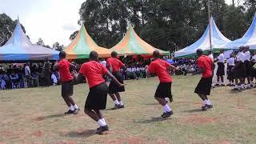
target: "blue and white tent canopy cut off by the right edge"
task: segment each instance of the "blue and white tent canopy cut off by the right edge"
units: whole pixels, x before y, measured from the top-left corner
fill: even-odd
[[[256,50],[256,15],[254,15],[254,20],[249,29],[246,31],[246,34],[244,34],[242,38],[223,46],[223,48],[229,50],[238,50],[240,46],[250,46],[250,49]]]

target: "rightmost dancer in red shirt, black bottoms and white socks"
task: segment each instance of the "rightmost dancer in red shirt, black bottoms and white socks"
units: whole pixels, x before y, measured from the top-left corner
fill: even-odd
[[[198,94],[202,101],[205,102],[205,106],[202,106],[202,110],[208,110],[213,107],[207,95],[210,95],[210,89],[213,78],[214,62],[206,55],[202,54],[202,50],[197,50],[198,54],[198,68],[202,73],[202,78],[195,88],[194,93]]]

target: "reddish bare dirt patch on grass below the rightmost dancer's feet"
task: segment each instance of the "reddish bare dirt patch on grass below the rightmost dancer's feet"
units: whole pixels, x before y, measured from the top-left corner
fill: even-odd
[[[206,117],[199,114],[193,114],[193,115],[182,118],[180,122],[184,124],[206,124],[206,123],[218,122],[218,118]]]

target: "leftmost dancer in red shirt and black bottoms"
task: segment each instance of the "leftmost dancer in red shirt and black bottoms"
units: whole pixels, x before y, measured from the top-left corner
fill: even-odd
[[[75,104],[74,99],[71,97],[73,95],[73,76],[70,74],[70,68],[75,69],[75,66],[66,60],[65,51],[59,53],[59,62],[54,65],[54,70],[58,69],[61,82],[62,82],[62,98],[69,106],[65,114],[78,114],[78,106]]]

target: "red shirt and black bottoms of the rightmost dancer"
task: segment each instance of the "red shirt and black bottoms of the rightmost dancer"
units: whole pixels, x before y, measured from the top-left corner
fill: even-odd
[[[202,55],[198,58],[198,67],[203,68],[204,72],[202,73],[202,78],[198,82],[198,86],[195,88],[194,93],[210,95],[213,78],[213,65],[214,62],[206,55]]]

